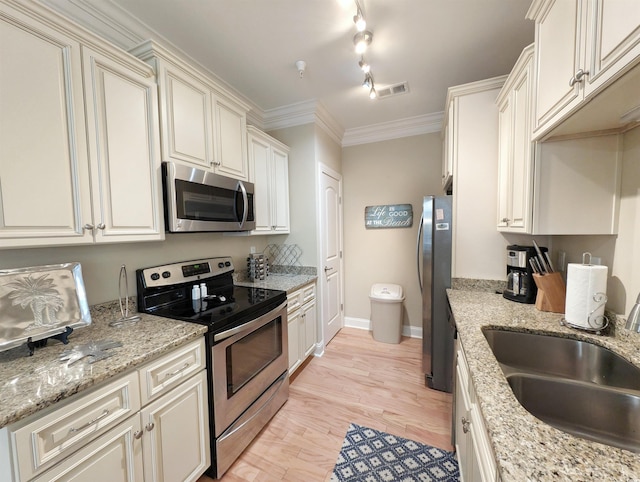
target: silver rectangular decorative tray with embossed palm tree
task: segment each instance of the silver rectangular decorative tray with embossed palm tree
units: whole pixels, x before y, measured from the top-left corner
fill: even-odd
[[[0,351],[89,324],[80,263],[0,270]]]

